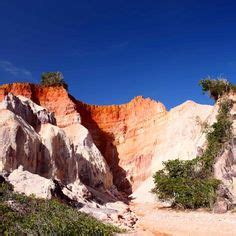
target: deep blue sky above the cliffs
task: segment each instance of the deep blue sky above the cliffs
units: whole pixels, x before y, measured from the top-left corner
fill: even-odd
[[[1,0],[0,29],[1,83],[58,70],[88,103],[209,103],[199,79],[236,82],[236,1]]]

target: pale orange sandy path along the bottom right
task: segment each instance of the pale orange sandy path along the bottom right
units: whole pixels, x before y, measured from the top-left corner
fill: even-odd
[[[136,203],[131,208],[139,217],[137,230],[142,230],[137,235],[236,235],[236,213],[174,211],[158,209],[153,203]]]

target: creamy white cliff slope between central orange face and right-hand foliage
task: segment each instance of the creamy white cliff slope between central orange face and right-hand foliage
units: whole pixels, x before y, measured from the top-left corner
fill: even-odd
[[[152,174],[163,168],[163,161],[180,159],[191,160],[196,157],[199,147],[206,142],[203,123],[215,121],[218,107],[200,105],[187,101],[168,113],[163,130],[158,133],[158,145],[152,161]],[[153,177],[145,180],[132,194],[134,202],[156,202],[151,193]]]

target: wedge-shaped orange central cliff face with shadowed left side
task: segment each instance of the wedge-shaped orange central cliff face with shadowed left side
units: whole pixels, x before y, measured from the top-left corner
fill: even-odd
[[[165,107],[136,97],[124,105],[95,106],[77,102],[82,124],[110,166],[116,186],[131,191],[151,173],[156,133]]]

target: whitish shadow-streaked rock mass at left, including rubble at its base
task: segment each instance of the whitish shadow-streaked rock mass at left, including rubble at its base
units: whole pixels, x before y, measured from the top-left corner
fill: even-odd
[[[126,198],[89,131],[78,120],[64,128],[56,123],[46,108],[8,93],[0,102],[0,178],[16,192],[56,197],[100,220],[132,227],[137,219],[119,201]]]

